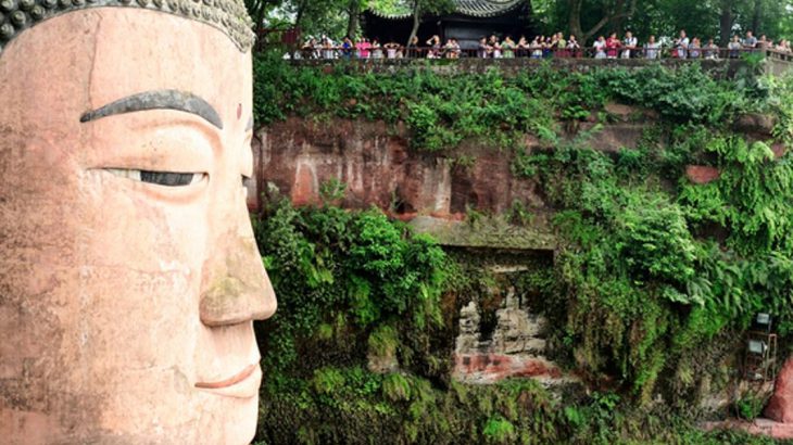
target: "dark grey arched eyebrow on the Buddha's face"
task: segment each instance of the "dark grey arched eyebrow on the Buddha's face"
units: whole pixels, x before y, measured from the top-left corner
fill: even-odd
[[[102,107],[80,116],[81,123],[101,119],[114,114],[134,113],[149,110],[176,110],[192,113],[218,129],[223,129],[223,122],[217,111],[205,100],[196,94],[178,90],[146,91],[128,96],[111,102]]]

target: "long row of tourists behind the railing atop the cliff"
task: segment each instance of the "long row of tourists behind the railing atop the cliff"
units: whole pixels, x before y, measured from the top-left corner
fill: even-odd
[[[689,37],[681,30],[675,39],[656,39],[650,36],[641,42],[631,31],[626,31],[621,38],[617,33],[608,37],[599,36],[591,47],[582,47],[576,36],[565,38],[563,33],[551,36],[536,36],[527,39],[520,36],[514,40],[512,36],[503,39],[495,35],[481,37],[476,49],[463,50],[456,39],[450,38],[443,42],[440,36],[432,36],[424,44],[417,37],[413,37],[407,46],[395,41],[381,43],[378,39],[369,40],[366,37],[353,41],[344,37],[341,41],[333,41],[327,36],[310,38],[302,46],[301,51],[294,54],[298,59],[460,59],[461,56],[476,56],[480,59],[550,59],[550,58],[584,58],[594,59],[738,59],[741,52],[755,50],[775,50],[793,54],[791,43],[781,39],[777,42],[765,35],[755,37],[747,31],[743,38],[732,36],[727,48],[719,48],[713,38],[706,41],[700,37]]]

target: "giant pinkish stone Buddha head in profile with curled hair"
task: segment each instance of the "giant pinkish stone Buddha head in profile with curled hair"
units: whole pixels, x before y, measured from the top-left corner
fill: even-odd
[[[275,296],[235,0],[0,0],[0,442],[248,443]]]

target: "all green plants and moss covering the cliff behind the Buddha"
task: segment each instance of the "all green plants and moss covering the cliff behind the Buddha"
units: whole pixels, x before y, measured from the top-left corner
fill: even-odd
[[[514,174],[536,181],[554,208],[558,240],[553,265],[530,267],[515,285],[556,327],[554,358],[595,391],[559,398],[531,381],[452,382],[457,314],[492,277],[379,211],[275,200],[254,218],[279,297],[276,316],[257,327],[267,374],[259,440],[750,441],[692,422],[708,391],[734,381],[738,366],[725,357],[741,347],[751,317],[770,312],[780,334],[793,331],[793,168],[790,154],[771,150],[793,142],[793,81],[751,68],[735,80],[696,65],[451,78],[260,60],[260,123],[385,119],[406,125],[413,148],[433,155],[454,156],[461,140],[478,138],[512,156]],[[639,147],[593,150],[615,101],[650,109],[657,122]],[[734,130],[757,112],[776,123],[769,140]],[[580,120],[595,125],[558,136]],[[523,147],[526,134],[546,149]],[[688,165],[719,176],[692,183]]]

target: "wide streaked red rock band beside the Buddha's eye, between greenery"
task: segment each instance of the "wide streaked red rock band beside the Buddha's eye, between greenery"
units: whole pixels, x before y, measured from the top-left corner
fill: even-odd
[[[272,182],[297,204],[316,203],[331,179],[347,185],[348,208],[376,205],[395,216],[457,218],[469,207],[500,213],[519,202],[542,206],[530,180],[516,178],[503,152],[461,148],[474,164],[408,150],[404,129],[383,123],[290,118],[257,134],[260,185]],[[456,152],[455,152],[456,153]],[[261,188],[261,186],[260,186]]]

